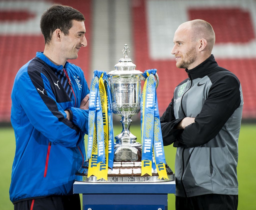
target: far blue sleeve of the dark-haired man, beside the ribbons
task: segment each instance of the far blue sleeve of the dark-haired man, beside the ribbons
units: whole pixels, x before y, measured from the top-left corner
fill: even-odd
[[[89,91],[87,82],[84,78],[84,74],[82,70],[81,70],[81,75],[83,75],[83,78],[81,78],[81,82],[82,82],[81,101],[82,101],[83,98],[86,97],[88,93],[90,93],[90,91]],[[80,106],[80,103],[79,103],[79,106]],[[67,110],[70,112],[70,121],[72,121],[78,128],[80,128],[82,132],[88,134],[89,109],[83,110],[75,107],[69,107]]]

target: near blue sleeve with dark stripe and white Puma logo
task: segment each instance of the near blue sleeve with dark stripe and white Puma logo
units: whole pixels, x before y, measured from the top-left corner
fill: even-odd
[[[80,130],[66,118],[43,74],[23,74],[17,82],[15,96],[35,129],[56,144],[76,147]]]

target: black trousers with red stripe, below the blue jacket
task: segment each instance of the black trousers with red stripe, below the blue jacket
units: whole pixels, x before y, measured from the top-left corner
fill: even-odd
[[[14,210],[81,210],[79,194],[50,196],[14,204]]]

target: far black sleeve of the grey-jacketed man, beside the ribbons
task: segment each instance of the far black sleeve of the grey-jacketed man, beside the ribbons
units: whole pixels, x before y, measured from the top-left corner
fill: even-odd
[[[170,145],[174,141],[176,141],[177,136],[183,131],[180,129],[175,129],[176,125],[182,119],[183,118],[175,119],[172,99],[166,111],[164,112],[162,117],[160,117],[164,146]]]

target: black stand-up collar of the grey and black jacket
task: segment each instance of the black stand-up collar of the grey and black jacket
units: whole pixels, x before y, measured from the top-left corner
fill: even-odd
[[[185,71],[191,76],[192,80],[197,78],[203,78],[204,76],[208,75],[209,72],[218,66],[217,62],[213,55],[207,58],[204,62],[199,64],[193,69],[185,69]]]

